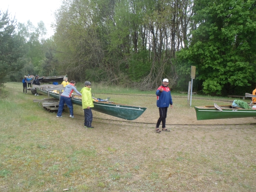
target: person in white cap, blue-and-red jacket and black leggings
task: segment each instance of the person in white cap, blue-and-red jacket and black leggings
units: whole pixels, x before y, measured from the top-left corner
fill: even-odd
[[[158,87],[156,95],[157,95],[157,107],[159,108],[159,119],[157,120],[157,126],[155,131],[157,133],[160,133],[159,125],[162,122],[162,131],[170,131],[166,129],[166,116],[167,116],[167,109],[169,108],[169,105],[172,106],[172,96],[171,96],[171,90],[168,87],[169,80],[163,79],[163,84]]]

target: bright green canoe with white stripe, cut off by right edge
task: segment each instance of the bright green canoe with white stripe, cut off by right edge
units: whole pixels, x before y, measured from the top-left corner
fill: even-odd
[[[195,107],[197,120],[256,117],[256,110],[253,109],[232,108],[230,105],[220,107],[223,107],[222,111],[214,106]]]

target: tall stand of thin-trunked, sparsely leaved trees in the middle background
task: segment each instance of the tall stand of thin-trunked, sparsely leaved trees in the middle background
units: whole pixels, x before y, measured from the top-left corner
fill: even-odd
[[[184,14],[190,13],[192,1],[179,3],[63,1],[55,13],[57,71],[76,81],[134,82],[145,89],[153,88],[163,76],[175,79],[172,60],[186,39],[189,16]]]

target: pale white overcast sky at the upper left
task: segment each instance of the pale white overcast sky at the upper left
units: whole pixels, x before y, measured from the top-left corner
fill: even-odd
[[[27,23],[30,20],[34,26],[42,20],[47,28],[47,37],[54,34],[50,27],[54,22],[53,13],[61,6],[61,0],[0,0],[0,9],[7,9],[17,22]]]

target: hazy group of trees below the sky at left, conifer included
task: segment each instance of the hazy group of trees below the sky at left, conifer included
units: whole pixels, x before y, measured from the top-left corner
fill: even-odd
[[[16,27],[8,11],[0,12],[0,29],[0,87],[9,80],[21,81],[28,74],[56,73],[54,67],[44,64],[46,28],[42,21],[37,27],[30,21]]]

